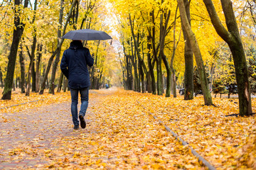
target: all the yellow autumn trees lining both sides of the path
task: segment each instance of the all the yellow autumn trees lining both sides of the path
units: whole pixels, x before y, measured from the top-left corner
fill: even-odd
[[[11,98],[14,84],[27,96],[31,90],[43,94],[49,89],[48,93],[54,94],[56,84],[58,91],[62,87],[65,90],[67,80],[58,64],[68,42],[61,37],[68,30],[90,28],[110,32],[111,28],[118,34],[116,49],[109,42],[83,42],[95,58],[95,66],[90,69],[92,89],[100,89],[106,83],[122,84],[128,90],[166,97],[173,94],[175,98],[176,87],[184,87],[184,99],[191,100],[196,92],[195,65],[204,104],[213,105],[211,84],[221,77],[215,73],[215,69],[220,69],[215,61],[225,53],[225,58],[233,56],[240,115],[250,115],[251,74],[245,54],[255,43],[256,4],[253,0],[220,2],[55,0],[21,4],[18,0],[2,1],[1,36],[5,39],[0,43],[10,47],[1,50],[1,54],[8,54],[0,62],[2,99]],[[13,12],[11,16],[9,13]],[[13,35],[9,35],[11,31]],[[213,52],[220,49],[221,52]],[[17,55],[20,64],[16,64]]]

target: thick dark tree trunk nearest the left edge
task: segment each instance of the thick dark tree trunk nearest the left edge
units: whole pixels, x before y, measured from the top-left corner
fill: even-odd
[[[6,74],[6,81],[4,83],[4,92],[2,99],[3,100],[11,100],[11,88],[13,86],[14,82],[14,69],[15,69],[15,63],[16,63],[16,57],[18,52],[18,43],[21,40],[21,35],[23,34],[23,30],[25,27],[25,23],[21,22],[20,15],[19,15],[19,9],[17,6],[19,6],[21,3],[19,0],[14,1],[15,7],[14,7],[14,34],[13,34],[13,40],[11,42],[11,49],[9,54],[9,62],[7,66],[7,74]],[[24,8],[28,7],[28,0],[24,1]]]

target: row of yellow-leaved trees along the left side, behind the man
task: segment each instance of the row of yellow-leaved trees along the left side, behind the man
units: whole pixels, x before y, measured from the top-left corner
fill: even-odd
[[[59,64],[70,40],[64,42],[61,37],[68,30],[109,29],[105,23],[107,8],[104,1],[31,2],[15,0],[1,1],[0,4],[2,99],[11,99],[14,75],[16,84],[21,87],[22,93],[26,92],[26,96],[31,90],[43,94],[46,87],[50,94],[54,94],[55,84],[58,84],[58,91],[62,86],[66,89],[68,81],[60,72]],[[95,58],[95,65],[90,69],[92,89],[99,89],[105,81],[111,81],[113,69],[107,65],[106,58],[114,60],[114,50],[107,41],[88,41],[84,44]]]

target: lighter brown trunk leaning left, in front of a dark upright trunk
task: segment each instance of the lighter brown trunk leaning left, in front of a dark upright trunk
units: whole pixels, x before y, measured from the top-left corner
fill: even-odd
[[[186,33],[188,35],[188,40],[191,42],[193,53],[196,57],[196,64],[198,67],[198,74],[201,81],[201,88],[203,91],[203,99],[204,99],[205,105],[212,105],[213,101],[210,95],[208,79],[206,77],[206,69],[203,64],[203,59],[201,56],[201,51],[198,46],[198,42],[196,40],[196,36],[191,30],[190,24],[188,23],[188,18],[186,17],[186,9],[183,4],[183,0],[177,0],[177,1],[178,1],[178,8],[181,14],[181,24],[183,25],[183,28],[186,30]]]

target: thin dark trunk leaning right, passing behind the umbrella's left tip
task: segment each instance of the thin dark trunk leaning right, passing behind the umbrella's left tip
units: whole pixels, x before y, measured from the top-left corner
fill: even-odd
[[[68,17],[67,17],[67,20],[66,20],[66,22],[65,22],[65,26],[64,26],[64,28],[63,28],[62,36],[65,35],[65,30],[66,30],[66,28],[67,28],[67,26],[68,26],[68,21],[69,21],[69,19],[70,19],[70,17],[71,17],[71,14],[72,14],[72,11],[73,11],[73,8],[74,8],[74,6],[75,6],[76,1],[78,1],[78,0],[74,0],[72,6],[70,7],[70,11],[69,11],[69,13],[68,13]],[[46,69],[46,74],[45,74],[44,77],[43,77],[43,82],[42,82],[41,90],[40,90],[39,94],[43,94],[43,91],[44,91],[44,89],[46,88],[46,80],[47,80],[47,77],[48,77],[48,73],[50,72],[50,67],[51,67],[51,64],[52,64],[52,62],[53,62],[53,58],[54,58],[55,55],[57,54],[58,50],[60,50],[60,48],[61,48],[61,46],[62,46],[62,44],[63,44],[63,41],[64,41],[64,39],[61,39],[61,40],[60,40],[60,42],[59,42],[58,45],[57,45],[57,48],[55,49],[55,51],[53,52],[53,54],[50,56],[50,59],[49,59],[49,61],[48,61],[48,66],[47,66],[47,69]]]

